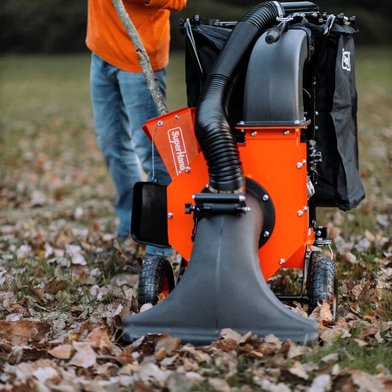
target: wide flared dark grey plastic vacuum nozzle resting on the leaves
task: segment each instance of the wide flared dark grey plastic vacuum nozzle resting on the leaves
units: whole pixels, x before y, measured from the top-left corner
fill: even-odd
[[[168,332],[184,342],[209,344],[222,328],[259,337],[311,344],[319,325],[292,312],[270,291],[260,270],[260,203],[247,195],[251,211],[200,219],[189,265],[172,293],[153,308],[127,317],[123,338]]]

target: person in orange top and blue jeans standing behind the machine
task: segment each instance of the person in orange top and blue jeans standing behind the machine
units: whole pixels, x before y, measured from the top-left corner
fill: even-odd
[[[166,97],[171,11],[187,0],[123,0],[146,48],[152,70]],[[151,98],[133,44],[111,0],[88,0],[86,45],[92,51],[90,87],[97,145],[117,190],[115,212],[119,242],[130,234],[133,185],[152,174],[151,142],[142,129],[159,115]],[[155,147],[154,147],[155,148]],[[171,178],[157,151],[154,173],[158,183]],[[171,256],[172,248],[146,246],[146,257]]]

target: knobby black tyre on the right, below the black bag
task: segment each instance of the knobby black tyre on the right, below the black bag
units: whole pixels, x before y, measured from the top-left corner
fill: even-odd
[[[338,308],[338,275],[335,263],[325,257],[320,251],[314,251],[310,257],[309,285],[308,285],[309,310],[311,314],[322,303],[323,299],[329,300],[333,321],[336,320]]]

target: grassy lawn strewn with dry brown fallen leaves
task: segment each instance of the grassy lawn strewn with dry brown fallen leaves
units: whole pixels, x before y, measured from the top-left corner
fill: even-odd
[[[105,333],[114,339],[118,324],[108,314],[119,303],[133,309],[135,297],[129,293],[136,287],[137,275],[130,273],[127,264],[130,260],[136,262],[138,252],[143,249],[125,249],[117,254],[116,260],[103,260],[100,264],[92,257],[92,250],[104,247],[113,238],[116,195],[95,143],[89,54],[3,56],[0,60],[0,324],[25,320],[35,323],[38,331],[45,329],[45,324],[52,328],[52,335],[50,338],[45,335],[44,339],[44,335],[38,334],[41,336],[38,340],[27,332],[13,335],[15,331],[10,330],[6,335],[3,331],[9,324],[0,325],[0,369],[5,374],[0,377],[0,390],[6,385],[18,386],[19,390],[27,390],[23,389],[27,386],[38,388],[39,380],[35,376],[18,379],[21,369],[33,372],[34,364],[50,358],[50,364],[40,362],[37,366],[55,368],[59,379],[47,379],[44,385],[53,390],[55,385],[63,385],[72,378],[74,370],[72,373],[70,367],[77,368],[79,387],[93,379],[112,380],[120,374],[120,369],[131,377],[127,379],[128,385],[136,385],[143,381],[138,374],[148,361],[171,372],[168,377],[173,380],[185,382],[181,378],[184,368],[204,377],[198,384],[178,381],[184,391],[226,391],[227,384],[233,391],[299,392],[307,391],[320,375],[328,375],[329,384],[319,391],[391,388],[391,64],[391,48],[356,50],[360,172],[367,197],[359,208],[349,213],[319,210],[319,223],[329,227],[335,240],[333,248],[339,268],[341,321],[336,328],[328,330],[337,334],[336,339],[325,339],[324,344],[298,351],[291,358],[287,350],[275,347],[270,352],[261,343],[257,346],[259,351],[256,343],[252,343],[253,348],[249,350],[253,350],[253,356],[244,346],[237,346],[236,354],[233,351],[230,354],[218,345],[205,349],[210,360],[200,367],[196,364],[196,351],[184,354],[172,350],[171,355],[180,355],[173,359],[172,367],[164,368],[160,360],[148,357],[146,346],[139,350],[140,357],[135,355],[139,360],[132,359],[135,362],[127,362],[125,349],[117,345],[108,346],[102,352],[94,347],[94,366],[84,367],[76,362],[76,354],[73,362],[68,363],[71,357],[60,359],[48,352],[60,342],[64,346],[73,345],[73,352],[79,353],[80,346],[73,342],[82,343],[87,332],[96,331],[97,326],[104,326]],[[183,55],[172,53],[167,79],[170,110],[186,106],[184,74]],[[123,276],[122,283],[119,276]],[[282,272],[281,277],[288,287],[295,286],[295,277],[290,273]],[[22,328],[24,324],[18,325]],[[7,341],[7,336],[14,340]],[[340,336],[343,337],[338,339]],[[28,346],[31,351],[13,350],[12,346]],[[261,352],[265,353],[264,358]],[[195,366],[190,361],[192,364],[196,361]],[[104,365],[106,370],[100,373]],[[109,365],[113,368],[109,369]],[[299,366],[305,373],[298,370]],[[177,372],[178,368],[182,370]],[[271,384],[257,381],[255,374]],[[208,381],[211,378],[226,384]],[[150,389],[135,387],[135,390],[168,390],[167,384],[160,382],[151,376],[146,381]],[[91,385],[89,388],[93,388]],[[249,389],[241,389],[244,385]],[[272,385],[280,385],[281,389],[273,389]],[[384,389],[377,389],[377,385]],[[290,389],[284,389],[286,386]],[[182,387],[178,388],[181,391]],[[121,384],[119,390],[134,389]]]

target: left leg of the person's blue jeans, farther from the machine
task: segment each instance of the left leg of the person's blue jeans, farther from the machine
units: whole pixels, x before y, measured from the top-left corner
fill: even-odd
[[[97,144],[117,189],[118,234],[129,235],[133,184],[142,180],[142,172],[130,136],[117,72],[117,68],[93,53],[90,85]]]

